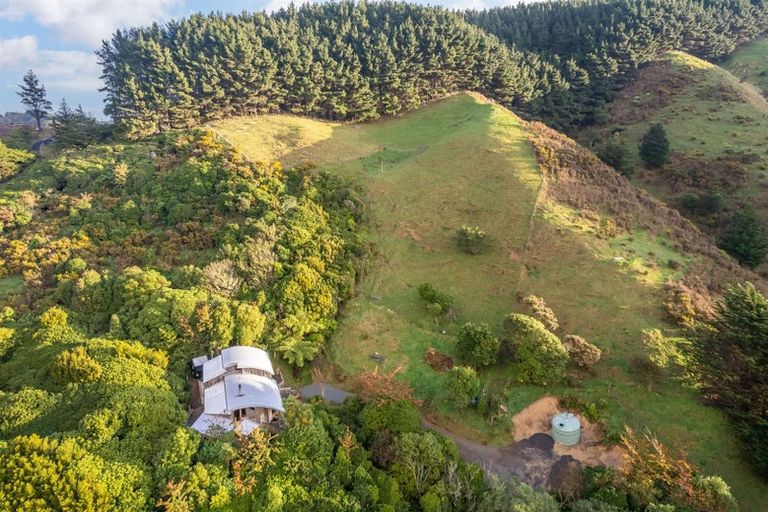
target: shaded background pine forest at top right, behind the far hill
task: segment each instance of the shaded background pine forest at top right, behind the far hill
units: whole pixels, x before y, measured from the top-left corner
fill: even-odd
[[[765,30],[768,5],[749,0],[586,0],[471,11],[468,21],[552,63],[569,85],[535,103],[557,126],[604,120],[604,105],[638,66],[667,50],[719,59]]]

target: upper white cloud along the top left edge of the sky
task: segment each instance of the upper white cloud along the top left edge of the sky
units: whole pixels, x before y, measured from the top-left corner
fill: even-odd
[[[66,41],[97,47],[115,29],[167,19],[184,0],[0,0],[0,18],[31,16]]]

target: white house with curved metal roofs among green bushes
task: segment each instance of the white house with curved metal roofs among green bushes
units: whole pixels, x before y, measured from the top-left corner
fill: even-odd
[[[276,428],[283,409],[280,384],[269,355],[256,347],[229,347],[219,355],[192,360],[196,390],[202,398],[189,425],[202,433]]]

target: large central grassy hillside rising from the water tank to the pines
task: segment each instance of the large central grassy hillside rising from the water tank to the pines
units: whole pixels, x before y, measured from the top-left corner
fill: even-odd
[[[312,161],[367,191],[376,256],[342,315],[331,364],[318,368],[323,378],[352,380],[377,366],[370,356],[378,352],[385,369],[402,369],[438,423],[508,442],[508,423],[449,405],[424,353],[452,354],[465,321],[498,331],[506,313],[525,311],[519,298],[535,293],[563,333],[586,337],[605,356],[574,387],[517,385],[503,366],[484,371],[488,386],[509,391],[510,412],[546,393],[603,399],[611,430],[649,428],[726,478],[745,510],[760,510],[768,487],[740,461],[725,419],[672,376],[647,385],[632,364],[643,329],[674,329],[662,307],[668,279],[715,269],[724,280],[744,277],[676,212],[569,139],[468,94],[369,124],[264,116],[213,127],[252,159]],[[485,229],[491,249],[459,252],[454,233],[463,224]],[[435,322],[417,296],[424,281],[454,295],[456,318]]]

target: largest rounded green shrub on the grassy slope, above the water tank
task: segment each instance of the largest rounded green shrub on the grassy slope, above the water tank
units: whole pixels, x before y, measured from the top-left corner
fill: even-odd
[[[546,385],[565,375],[568,351],[544,324],[527,315],[510,314],[504,319],[504,339],[510,344],[524,382]]]

